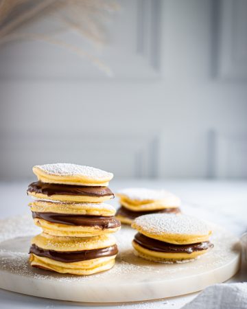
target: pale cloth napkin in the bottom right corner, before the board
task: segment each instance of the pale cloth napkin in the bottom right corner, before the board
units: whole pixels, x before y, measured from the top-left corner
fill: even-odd
[[[214,284],[205,288],[183,309],[247,308],[247,283]]]

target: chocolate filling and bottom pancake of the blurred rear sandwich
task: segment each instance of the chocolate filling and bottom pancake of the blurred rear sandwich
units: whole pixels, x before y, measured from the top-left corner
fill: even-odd
[[[151,211],[132,211],[126,207],[121,206],[117,210],[116,218],[120,220],[121,223],[126,225],[131,225],[133,220],[139,216],[144,216],[146,214],[180,214],[180,208],[165,208]]]

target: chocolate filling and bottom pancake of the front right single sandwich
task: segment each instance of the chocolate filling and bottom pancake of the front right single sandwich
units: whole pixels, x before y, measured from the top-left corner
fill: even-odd
[[[137,255],[145,260],[153,262],[180,262],[198,258],[213,247],[211,242],[199,242],[196,244],[169,244],[161,240],[155,240],[137,233],[132,241]]]

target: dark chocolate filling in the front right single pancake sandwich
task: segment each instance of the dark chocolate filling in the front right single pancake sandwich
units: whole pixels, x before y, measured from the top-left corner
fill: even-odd
[[[213,248],[213,244],[211,242],[198,242],[196,244],[169,244],[168,242],[162,242],[161,240],[147,237],[141,233],[137,233],[134,236],[134,242],[136,242],[145,249],[167,253],[191,254],[194,251],[201,251]]]

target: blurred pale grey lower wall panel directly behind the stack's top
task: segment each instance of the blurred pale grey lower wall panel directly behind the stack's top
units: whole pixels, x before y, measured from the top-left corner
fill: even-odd
[[[1,134],[0,180],[32,176],[32,166],[72,162],[109,170],[115,176],[155,178],[158,137],[156,135],[40,135]],[[16,160],[16,155],[21,158]]]

